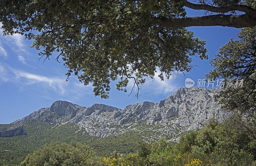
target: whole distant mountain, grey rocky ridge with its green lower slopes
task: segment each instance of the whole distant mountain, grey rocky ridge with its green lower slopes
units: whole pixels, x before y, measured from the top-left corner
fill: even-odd
[[[134,152],[139,139],[150,142],[164,137],[175,141],[179,134],[202,128],[213,116],[223,120],[224,113],[213,99],[217,91],[180,88],[159,103],[145,101],[123,110],[103,104],[86,108],[58,100],[23,119],[0,125],[0,150],[12,150],[1,152],[7,157],[4,163],[17,164],[28,153],[52,141],[88,142],[105,156],[114,150]]]

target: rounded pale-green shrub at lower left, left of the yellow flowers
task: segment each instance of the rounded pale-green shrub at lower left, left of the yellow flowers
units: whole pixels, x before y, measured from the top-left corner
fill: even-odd
[[[79,142],[44,145],[20,166],[91,166],[98,164],[92,149]]]

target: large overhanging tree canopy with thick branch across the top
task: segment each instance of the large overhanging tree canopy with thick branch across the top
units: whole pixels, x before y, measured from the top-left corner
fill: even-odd
[[[224,0],[1,0],[4,34],[20,33],[34,39],[41,57],[59,53],[79,81],[92,82],[95,96],[108,98],[109,83],[119,79],[126,91],[130,79],[139,85],[159,69],[164,80],[190,71],[192,56],[207,58],[205,41],[193,37],[189,26],[256,26],[254,1]],[[186,18],[184,6],[206,10]],[[235,11],[244,14],[236,15]],[[211,12],[211,13],[210,13]],[[214,12],[212,14],[212,12]],[[220,14],[221,13],[221,14]],[[39,33],[38,33],[39,32]]]

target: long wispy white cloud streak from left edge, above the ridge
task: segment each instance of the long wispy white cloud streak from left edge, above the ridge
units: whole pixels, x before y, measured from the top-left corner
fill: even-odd
[[[0,81],[12,82],[20,89],[36,86],[37,90],[44,90],[45,94],[52,93],[61,96],[70,96],[78,99],[84,94],[92,93],[92,86],[83,86],[82,83],[66,81],[66,77],[49,77],[14,69],[7,64],[0,63]]]

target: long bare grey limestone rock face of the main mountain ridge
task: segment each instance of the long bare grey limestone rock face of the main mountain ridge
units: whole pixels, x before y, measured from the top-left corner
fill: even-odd
[[[123,110],[103,104],[93,104],[86,108],[59,100],[51,107],[41,108],[12,123],[25,123],[33,119],[58,125],[71,122],[90,135],[101,138],[123,134],[131,130],[131,126],[134,130],[136,126],[145,124],[158,126],[161,133],[175,136],[202,128],[213,116],[220,121],[225,118],[213,98],[213,94],[218,91],[217,88],[180,88],[159,103],[145,101],[128,105]]]

